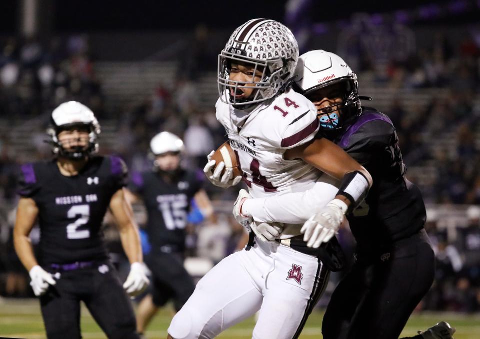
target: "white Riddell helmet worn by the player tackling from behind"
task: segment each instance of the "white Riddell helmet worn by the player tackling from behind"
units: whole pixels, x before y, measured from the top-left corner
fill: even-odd
[[[318,110],[324,130],[340,129],[361,114],[356,74],[334,53],[317,49],[300,55],[292,87],[310,101],[320,101],[325,96],[342,98],[341,104]]]

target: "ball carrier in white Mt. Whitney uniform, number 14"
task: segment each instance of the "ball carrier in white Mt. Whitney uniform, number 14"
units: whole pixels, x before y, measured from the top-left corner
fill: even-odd
[[[319,126],[316,109],[289,87],[297,59],[295,38],[277,21],[252,19],[235,29],[218,56],[216,117],[238,155],[243,175],[233,178],[231,169],[226,169],[220,176],[224,164],[210,160],[212,153],[204,172],[220,187],[243,179],[253,198],[323,185],[324,196],[315,197],[317,203],[300,213],[306,220],[321,211],[322,222],[331,226],[324,229],[335,229],[366,195],[371,178],[338,146],[314,139]],[[324,173],[332,179],[323,179]],[[335,180],[341,180],[339,189],[331,184]],[[240,219],[241,200],[248,196],[242,193],[235,204]],[[258,310],[252,338],[298,338],[329,270],[321,261],[321,251],[303,242],[301,224],[289,220],[283,213],[275,220],[283,225],[243,223],[252,231],[248,245],[198,282],[173,318],[168,338],[214,338]]]

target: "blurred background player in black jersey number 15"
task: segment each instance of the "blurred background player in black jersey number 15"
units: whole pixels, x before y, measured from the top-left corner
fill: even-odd
[[[137,330],[143,333],[159,307],[173,301],[181,309],[195,286],[183,268],[187,214],[192,199],[205,217],[213,208],[202,189],[199,175],[180,167],[182,140],[170,132],[161,132],[150,141],[153,170],[132,175],[132,202],[142,200],[148,220],[146,234],[151,245],[145,263],[152,273],[151,294],[137,309]],[[129,195],[130,197],[130,195]]]

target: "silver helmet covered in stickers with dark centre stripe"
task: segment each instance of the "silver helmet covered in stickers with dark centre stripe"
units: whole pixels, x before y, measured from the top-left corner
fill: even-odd
[[[298,59],[298,44],[291,31],[278,21],[252,19],[237,27],[218,55],[218,93],[227,104],[246,108],[274,97],[289,84]],[[232,61],[251,63],[255,71],[263,70],[260,81],[229,80]],[[236,99],[230,89],[257,88],[251,98]]]

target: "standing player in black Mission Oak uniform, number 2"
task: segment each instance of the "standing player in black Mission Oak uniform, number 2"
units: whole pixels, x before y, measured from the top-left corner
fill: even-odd
[[[138,338],[127,294],[141,293],[148,279],[123,192],[126,166],[118,157],[93,155],[100,126],[88,107],[76,101],[62,103],[53,110],[51,123],[48,134],[56,156],[21,166],[13,234],[15,251],[40,298],[46,336],[81,338],[83,301],[108,338]],[[100,229],[107,208],[131,263],[123,287]],[[38,258],[28,237],[35,220],[40,227]]]

